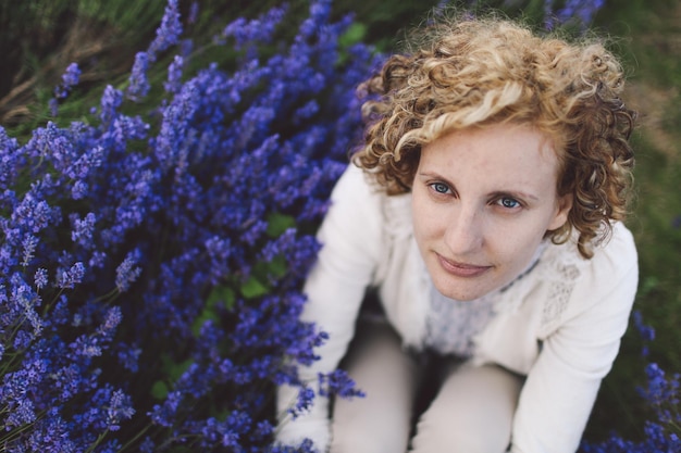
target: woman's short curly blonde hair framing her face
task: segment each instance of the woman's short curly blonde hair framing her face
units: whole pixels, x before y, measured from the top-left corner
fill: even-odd
[[[420,30],[425,43],[391,56],[360,86],[370,100],[364,144],[352,161],[388,194],[409,192],[423,146],[456,129],[529,124],[553,140],[558,194],[573,194],[568,222],[547,235],[579,231],[592,246],[623,219],[632,185],[629,144],[635,112],[619,95],[617,59],[599,42],[538,36],[518,23],[458,18]]]

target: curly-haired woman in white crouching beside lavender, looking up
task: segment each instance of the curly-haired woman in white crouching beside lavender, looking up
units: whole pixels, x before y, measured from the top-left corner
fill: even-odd
[[[337,400],[331,418],[318,398],[278,439],[333,453],[574,452],[637,284],[620,223],[634,117],[621,68],[599,43],[507,21],[426,32],[364,84],[366,143],[305,288],[304,318],[330,339],[301,375],[347,352],[367,397]],[[372,288],[384,317],[362,320]],[[419,414],[424,380],[438,388]],[[280,390],[282,412],[296,393]]]

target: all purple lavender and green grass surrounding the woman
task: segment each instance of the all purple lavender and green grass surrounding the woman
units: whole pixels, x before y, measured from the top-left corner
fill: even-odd
[[[275,386],[356,392],[298,378],[301,284],[357,85],[435,3],[219,3],[0,7],[0,451],[311,452],[273,445]],[[476,3],[623,37],[642,284],[581,450],[681,451],[681,8]]]

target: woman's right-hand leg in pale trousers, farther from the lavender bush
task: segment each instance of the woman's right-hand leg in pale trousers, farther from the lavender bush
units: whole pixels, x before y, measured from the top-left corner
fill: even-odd
[[[505,452],[522,382],[496,365],[453,367],[417,425],[412,452]]]

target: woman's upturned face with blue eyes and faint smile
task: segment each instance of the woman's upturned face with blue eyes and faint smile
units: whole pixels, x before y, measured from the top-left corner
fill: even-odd
[[[527,269],[572,206],[557,196],[558,166],[546,136],[523,125],[458,130],[421,150],[413,229],[439,292],[474,300]]]

